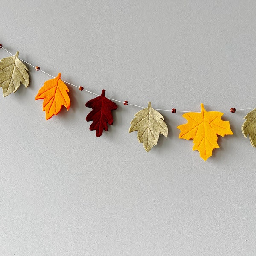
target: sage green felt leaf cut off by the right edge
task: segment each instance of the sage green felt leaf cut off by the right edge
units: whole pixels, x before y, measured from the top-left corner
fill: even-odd
[[[256,108],[244,116],[244,119],[246,119],[242,125],[244,137],[246,138],[249,135],[250,143],[253,147],[256,147]]]

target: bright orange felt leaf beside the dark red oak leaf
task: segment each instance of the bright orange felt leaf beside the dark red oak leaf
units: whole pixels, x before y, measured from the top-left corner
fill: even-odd
[[[70,98],[67,94],[69,89],[63,81],[61,81],[61,73],[54,79],[50,79],[44,83],[44,86],[38,91],[36,99],[44,99],[43,111],[45,118],[48,120],[53,115],[57,115],[64,105],[67,110],[70,108]]]

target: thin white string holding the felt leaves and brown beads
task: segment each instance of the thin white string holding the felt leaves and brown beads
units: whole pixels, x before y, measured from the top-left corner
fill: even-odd
[[[11,52],[7,51],[7,50],[4,49],[3,47],[2,47],[2,49],[5,50],[6,52],[8,52],[10,55],[14,56]],[[23,61],[23,62],[25,62],[26,64],[30,65],[31,67],[34,67],[34,68],[35,68],[35,66],[33,66],[32,64],[30,64],[30,63],[28,63],[28,62],[26,62],[26,61],[24,61],[24,60],[22,60],[22,59],[20,59],[20,60]],[[55,78],[54,76],[52,76],[52,75],[46,73],[45,71],[43,71],[43,70],[41,70],[41,69],[40,69],[39,71],[45,73],[45,74],[48,75],[48,76],[51,76],[52,78]],[[62,81],[64,81],[64,80],[62,80]],[[67,81],[64,81],[64,83],[70,84],[70,83],[67,82]],[[79,88],[79,86],[76,86],[75,84],[70,84],[70,85],[72,85],[73,87]],[[99,96],[98,94],[93,93],[93,92],[91,92],[91,91],[89,91],[89,90],[85,90],[85,89],[83,89],[83,90],[84,90],[85,92],[87,92],[87,93],[92,93],[92,94],[94,94],[94,95],[96,95],[96,96]],[[108,99],[110,99],[110,98],[108,98]],[[124,102],[124,101],[121,101],[121,100],[118,100],[118,99],[110,99],[110,100],[113,100],[113,101],[116,101],[116,102],[121,102],[121,103],[124,103],[125,105],[127,104],[127,105],[131,105],[131,106],[138,107],[138,108],[145,108],[145,107],[138,106],[138,105],[135,105],[135,104],[131,104],[131,103],[128,103],[128,102]],[[241,109],[236,109],[236,111],[250,110],[250,109],[254,109],[254,108],[241,108]],[[169,109],[157,109],[157,108],[156,108],[155,110],[158,110],[158,111],[170,111],[170,112],[172,112],[172,110],[169,110]],[[180,110],[179,110],[179,111],[176,111],[176,112],[180,112],[180,113],[189,113],[189,112],[192,112],[192,111],[180,111]],[[198,112],[198,111],[193,111],[193,112],[194,112],[194,113],[201,113],[201,112]],[[230,110],[223,110],[223,111],[218,111],[218,112],[230,112]]]

